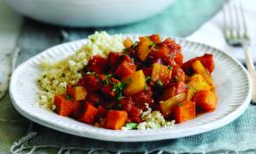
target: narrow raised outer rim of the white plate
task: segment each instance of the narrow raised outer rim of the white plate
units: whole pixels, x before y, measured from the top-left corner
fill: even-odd
[[[123,35],[123,36],[137,36],[137,35]],[[190,41],[190,40],[186,40],[186,38],[181,38],[181,37],[174,37],[176,39],[179,39],[181,41],[185,41],[185,42],[190,42],[190,43],[193,43],[193,44],[197,44],[197,45],[202,45],[202,46],[206,46],[206,47],[211,47],[213,50],[217,51],[217,52],[220,52],[222,54],[224,54],[225,56],[227,56],[229,59],[231,59],[232,61],[235,62],[236,66],[240,67],[240,69],[243,69],[243,73],[244,75],[247,77],[247,81],[248,81],[248,86],[249,86],[249,90],[248,90],[248,93],[244,99],[244,102],[239,105],[238,108],[236,108],[235,110],[232,110],[231,112],[229,112],[225,117],[223,118],[219,118],[217,120],[214,120],[212,122],[209,122],[207,124],[203,124],[203,125],[200,125],[200,126],[195,126],[193,130],[191,130],[191,128],[186,128],[188,129],[189,131],[187,131],[186,129],[182,130],[183,131],[183,134],[178,134],[178,135],[174,135],[174,136],[169,136],[169,135],[163,135],[165,134],[166,132],[165,131],[160,131],[158,133],[154,133],[154,134],[140,134],[140,135],[136,135],[136,136],[126,136],[126,135],[121,135],[121,136],[117,136],[117,135],[114,135],[114,136],[110,136],[110,134],[101,134],[101,135],[95,135],[94,133],[90,132],[90,131],[87,131],[86,134],[81,134],[81,133],[78,133],[76,132],[76,130],[73,130],[73,129],[66,129],[65,126],[56,126],[56,125],[53,125],[53,122],[50,122],[50,121],[45,121],[45,119],[40,119],[40,118],[37,118],[36,115],[33,115],[29,112],[26,112],[25,109],[22,109],[19,104],[14,100],[13,98],[13,95],[12,95],[12,88],[13,88],[13,78],[15,77],[16,75],[16,72],[21,69],[21,67],[27,63],[28,61],[31,61],[32,59],[35,59],[37,56],[40,56],[44,53],[46,53],[47,51],[51,51],[53,50],[53,48],[56,48],[56,47],[60,47],[62,45],[71,45],[71,44],[74,44],[74,43],[78,43],[78,42],[81,42],[81,43],[84,43],[87,41],[87,39],[80,39],[80,40],[76,40],[76,41],[72,41],[72,42],[68,42],[68,43],[64,43],[64,44],[60,44],[60,45],[54,45],[53,47],[50,47],[46,50],[44,50],[43,52],[41,53],[38,53],[37,55],[29,58],[29,60],[27,61],[24,61],[21,63],[21,65],[19,65],[13,72],[12,74],[12,78],[11,78],[11,82],[10,82],[10,88],[9,88],[9,93],[10,93],[10,98],[11,98],[11,101],[12,101],[12,105],[14,106],[15,109],[17,109],[22,116],[26,117],[26,118],[29,118],[30,120],[42,125],[42,126],[47,126],[47,127],[50,127],[54,130],[57,130],[57,131],[60,131],[60,132],[63,132],[63,133],[67,133],[67,134],[74,134],[74,135],[77,135],[77,136],[81,136],[81,137],[87,137],[87,138],[93,138],[93,139],[97,139],[97,140],[102,140],[102,141],[111,141],[111,142],[147,142],[147,141],[159,141],[159,140],[166,140],[166,139],[175,139],[175,138],[179,138],[179,137],[186,137],[186,136],[190,136],[190,135],[194,135],[194,134],[202,134],[202,133],[205,133],[205,132],[209,132],[211,130],[214,130],[214,129],[217,129],[219,127],[222,127],[222,126],[226,126],[227,124],[231,123],[232,121],[234,121],[236,118],[240,117],[242,115],[242,113],[244,113],[244,110],[247,109],[247,107],[249,106],[250,104],[250,101],[251,101],[251,97],[250,97],[250,94],[252,94],[252,81],[251,81],[251,78],[249,77],[249,74],[247,72],[246,69],[244,69],[243,65],[237,61],[233,56],[229,55],[228,53],[225,53],[215,47],[212,47],[211,45],[204,45],[204,44],[201,44],[201,43],[197,43],[197,42],[194,42],[194,41]],[[216,125],[216,123],[218,123],[218,125]],[[85,124],[86,125],[86,124]],[[157,128],[157,129],[162,129],[162,128]],[[107,131],[107,130],[106,130]],[[113,131],[113,130],[108,130],[108,131]],[[116,131],[116,130],[115,130]],[[134,131],[134,130],[131,130],[131,131]],[[144,131],[149,131],[149,130],[135,130],[135,131],[141,131],[141,132],[144,132]],[[182,132],[182,131],[179,131],[179,132]],[[156,131],[154,131],[156,132]],[[155,136],[155,134],[158,134],[158,136]]]

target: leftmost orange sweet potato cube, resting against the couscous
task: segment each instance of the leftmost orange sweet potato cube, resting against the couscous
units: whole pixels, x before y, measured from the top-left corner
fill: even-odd
[[[56,112],[60,116],[70,117],[73,113],[73,101],[66,98],[65,94],[57,94],[54,97]]]

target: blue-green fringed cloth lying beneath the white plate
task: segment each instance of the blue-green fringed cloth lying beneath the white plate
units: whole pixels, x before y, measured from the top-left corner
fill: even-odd
[[[165,36],[188,36],[199,28],[202,23],[209,20],[216,12],[219,12],[224,0],[177,0],[177,2],[164,12],[154,17],[127,26],[114,28],[59,28],[26,20],[18,41],[21,55],[18,63],[43,51],[44,49],[80,38],[87,37],[95,30],[106,30],[115,33],[153,34],[159,33]],[[157,6],[156,6],[157,7]],[[6,108],[12,110],[13,118],[21,118],[14,113],[10,99],[4,98]],[[45,126],[30,123],[29,120],[21,124],[12,124],[13,130],[21,131],[25,136],[12,144],[12,151],[23,152],[47,152],[47,153],[117,153],[117,152],[150,152],[168,151],[171,153],[234,153],[237,151],[256,152],[256,106],[250,105],[244,114],[227,126],[208,133],[198,134],[177,140],[164,140],[159,142],[101,142],[93,139],[81,138],[70,134],[63,134]],[[2,112],[3,113],[2,113]],[[0,116],[7,114],[0,109]],[[24,120],[23,118],[21,118]],[[0,130],[2,130],[0,121]],[[3,126],[10,125],[4,123]],[[10,128],[9,126],[8,128]],[[24,130],[28,129],[29,134]],[[5,129],[4,129],[5,130]],[[10,128],[11,130],[11,128]],[[12,136],[11,131],[6,131]],[[16,132],[13,134],[17,134]],[[6,137],[6,136],[4,136]],[[11,138],[11,137],[10,137]],[[1,141],[1,136],[0,136]],[[9,143],[9,142],[8,142]],[[4,142],[1,142],[4,145]],[[7,144],[7,143],[5,143]],[[1,147],[1,146],[0,146]],[[5,148],[11,145],[4,146]],[[4,150],[2,150],[4,151]],[[7,151],[7,150],[5,150]],[[1,150],[0,150],[1,152]]]

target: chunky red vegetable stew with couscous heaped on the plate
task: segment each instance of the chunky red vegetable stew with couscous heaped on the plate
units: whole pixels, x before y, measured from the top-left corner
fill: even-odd
[[[216,109],[213,55],[183,61],[159,35],[96,32],[68,58],[41,64],[38,103],[63,117],[108,129],[172,126]]]

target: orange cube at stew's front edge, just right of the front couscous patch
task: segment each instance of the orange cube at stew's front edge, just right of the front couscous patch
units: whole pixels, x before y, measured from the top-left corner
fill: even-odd
[[[195,118],[195,102],[179,102],[174,109],[174,118],[177,123],[183,123],[186,120]]]

